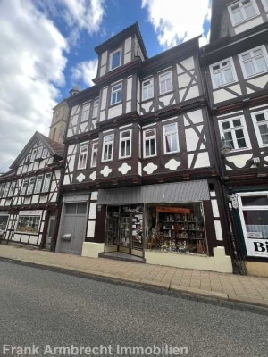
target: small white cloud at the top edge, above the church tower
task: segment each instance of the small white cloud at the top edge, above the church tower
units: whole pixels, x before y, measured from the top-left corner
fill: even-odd
[[[86,29],[88,34],[96,33],[105,15],[105,0],[62,0],[65,5],[64,19],[70,27]]]

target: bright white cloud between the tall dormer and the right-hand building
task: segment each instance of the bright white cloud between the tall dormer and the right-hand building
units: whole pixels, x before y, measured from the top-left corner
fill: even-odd
[[[142,7],[163,47],[202,35],[203,23],[210,17],[209,0],[142,0]]]

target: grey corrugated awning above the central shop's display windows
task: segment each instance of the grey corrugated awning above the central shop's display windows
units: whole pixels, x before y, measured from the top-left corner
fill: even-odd
[[[178,203],[210,199],[206,180],[100,189],[97,204]]]

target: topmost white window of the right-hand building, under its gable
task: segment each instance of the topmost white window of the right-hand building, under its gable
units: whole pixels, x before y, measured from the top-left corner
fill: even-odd
[[[254,17],[256,12],[255,0],[242,0],[229,6],[230,19],[233,25]]]

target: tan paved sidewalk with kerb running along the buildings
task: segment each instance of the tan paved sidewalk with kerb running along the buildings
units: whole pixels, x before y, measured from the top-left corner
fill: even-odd
[[[186,270],[0,245],[0,258],[268,309],[268,278]]]

